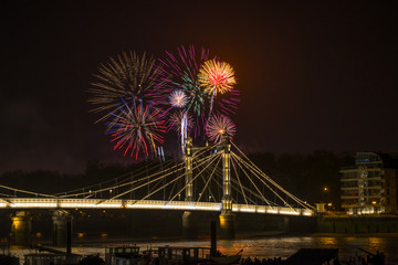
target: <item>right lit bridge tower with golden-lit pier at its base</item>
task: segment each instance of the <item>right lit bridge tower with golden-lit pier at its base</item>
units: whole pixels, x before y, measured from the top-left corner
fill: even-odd
[[[222,208],[220,219],[220,237],[222,240],[234,239],[234,223],[235,215],[232,213],[232,197],[231,197],[231,142],[229,136],[224,135],[222,138]]]

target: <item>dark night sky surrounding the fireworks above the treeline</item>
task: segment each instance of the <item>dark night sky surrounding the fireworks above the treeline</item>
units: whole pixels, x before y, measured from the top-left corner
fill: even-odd
[[[392,1],[391,1],[392,2]],[[206,46],[230,63],[248,151],[398,151],[398,10],[387,1],[8,1],[0,172],[125,161],[86,103],[122,51]]]

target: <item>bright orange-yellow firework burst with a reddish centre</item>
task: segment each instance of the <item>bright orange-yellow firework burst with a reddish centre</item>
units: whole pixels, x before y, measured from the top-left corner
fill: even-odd
[[[198,81],[205,88],[205,92],[216,95],[230,92],[232,86],[237,84],[234,72],[228,63],[209,60],[201,66]]]

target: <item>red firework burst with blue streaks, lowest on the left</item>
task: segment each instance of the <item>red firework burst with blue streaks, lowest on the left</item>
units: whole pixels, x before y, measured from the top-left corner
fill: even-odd
[[[123,99],[122,99],[123,100]],[[114,149],[125,148],[124,156],[130,150],[130,157],[138,159],[139,152],[146,157],[156,156],[157,144],[161,145],[164,138],[160,135],[166,132],[165,120],[161,120],[160,109],[138,105],[135,99],[129,107],[125,100],[118,106],[118,113],[112,113],[113,120],[107,123],[106,134],[112,137]]]

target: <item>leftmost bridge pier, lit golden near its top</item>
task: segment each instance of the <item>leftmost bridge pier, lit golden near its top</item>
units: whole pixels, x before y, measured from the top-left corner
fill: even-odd
[[[32,216],[27,211],[18,211],[11,216],[11,244],[30,245],[32,233]]]

